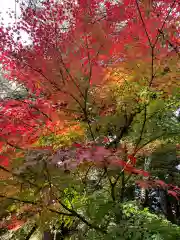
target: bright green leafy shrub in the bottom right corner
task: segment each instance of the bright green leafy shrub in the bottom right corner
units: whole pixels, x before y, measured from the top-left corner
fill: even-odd
[[[139,209],[135,202],[127,202],[119,207],[121,221],[109,227],[107,239],[168,240],[180,237],[179,227],[163,217],[150,213],[148,209]]]

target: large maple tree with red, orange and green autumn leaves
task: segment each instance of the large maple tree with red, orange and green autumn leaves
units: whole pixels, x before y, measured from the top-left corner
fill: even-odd
[[[78,228],[76,239],[132,239],[135,223],[129,235],[117,229],[135,182],[180,194],[142,163],[179,141],[178,1],[49,0],[21,11],[0,28],[4,76],[28,91],[0,103],[0,197],[16,223],[35,224],[29,238],[51,225]]]

